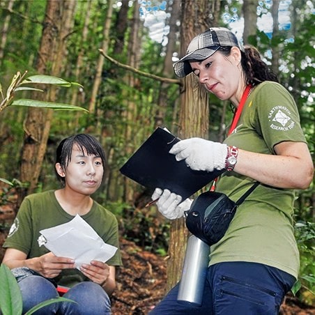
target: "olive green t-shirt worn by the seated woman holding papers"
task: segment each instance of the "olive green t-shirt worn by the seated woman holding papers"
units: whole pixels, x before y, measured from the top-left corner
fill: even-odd
[[[64,224],[73,218],[74,216],[61,208],[54,191],[31,194],[23,200],[3,247],[18,249],[24,252],[28,259],[42,256],[49,250],[38,244],[39,231]],[[93,201],[91,210],[82,215],[82,219],[93,227],[105,243],[118,248],[116,254],[106,263],[109,266],[121,266],[118,222],[115,215]],[[73,286],[89,279],[77,269],[66,269],[54,280],[62,286]]]

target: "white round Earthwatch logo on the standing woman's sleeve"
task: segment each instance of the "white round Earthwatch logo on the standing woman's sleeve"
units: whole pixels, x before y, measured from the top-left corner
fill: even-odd
[[[288,131],[294,128],[295,122],[291,119],[291,112],[285,106],[275,106],[268,114],[270,128],[273,130]]]

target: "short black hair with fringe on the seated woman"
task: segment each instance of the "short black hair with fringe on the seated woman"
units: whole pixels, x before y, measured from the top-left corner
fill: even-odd
[[[77,144],[82,153],[86,151],[87,155],[99,156],[102,160],[103,167],[105,167],[106,157],[100,142],[91,135],[79,134],[63,139],[56,149],[56,163],[61,165],[63,171],[66,171],[66,167],[68,167],[71,161],[72,148],[75,144]],[[65,178],[60,176],[56,169],[55,173],[57,178],[64,185],[66,182]]]

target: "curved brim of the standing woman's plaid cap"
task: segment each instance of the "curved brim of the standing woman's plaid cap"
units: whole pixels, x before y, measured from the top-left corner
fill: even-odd
[[[174,72],[178,77],[185,77],[192,72],[192,67],[190,66],[189,61],[192,60],[204,60],[213,55],[220,46],[215,47],[207,47],[194,50],[194,52],[190,52],[180,60],[174,63]]]

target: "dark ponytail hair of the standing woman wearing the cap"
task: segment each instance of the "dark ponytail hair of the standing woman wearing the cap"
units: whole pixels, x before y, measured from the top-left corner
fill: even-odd
[[[230,46],[220,47],[218,50],[225,56],[231,54]],[[246,84],[258,85],[264,81],[279,82],[277,75],[261,59],[259,51],[253,46],[245,46],[245,52],[242,50],[241,65],[245,74]]]

